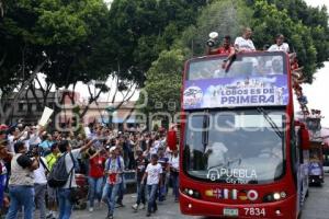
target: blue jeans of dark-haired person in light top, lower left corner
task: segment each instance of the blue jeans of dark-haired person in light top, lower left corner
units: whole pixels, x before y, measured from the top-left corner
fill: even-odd
[[[15,219],[18,211],[24,206],[24,219],[33,219],[33,186],[9,186],[10,206],[5,219]]]

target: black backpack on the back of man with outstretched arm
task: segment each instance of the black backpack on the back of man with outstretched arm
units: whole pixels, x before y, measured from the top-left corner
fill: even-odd
[[[75,159],[72,153],[70,152],[73,166],[69,172],[67,172],[66,162],[65,162],[66,154],[67,153],[64,153],[61,157],[59,157],[59,159],[56,161],[52,171],[48,174],[48,185],[53,188],[63,187],[75,169]]]

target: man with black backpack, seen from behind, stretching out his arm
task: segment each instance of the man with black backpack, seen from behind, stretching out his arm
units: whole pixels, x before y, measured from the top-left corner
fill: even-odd
[[[75,163],[77,157],[90,148],[92,140],[86,146],[71,150],[67,140],[59,142],[58,148],[61,153],[48,176],[48,185],[58,188],[59,217],[58,219],[69,219],[76,197]]]

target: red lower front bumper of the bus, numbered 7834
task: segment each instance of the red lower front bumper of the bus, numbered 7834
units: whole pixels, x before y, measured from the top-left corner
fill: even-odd
[[[296,196],[275,203],[230,205],[195,199],[182,193],[180,195],[180,208],[181,212],[184,215],[239,219],[297,218]],[[236,209],[238,211],[238,216],[224,216],[224,209]]]

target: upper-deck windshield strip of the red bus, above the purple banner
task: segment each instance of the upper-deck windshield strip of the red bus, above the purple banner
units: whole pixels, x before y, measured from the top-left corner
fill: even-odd
[[[190,61],[186,80],[286,74],[284,53],[237,55],[226,69],[223,68],[225,59],[226,57],[211,57]]]

